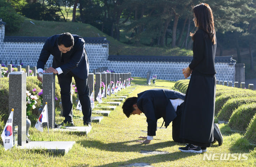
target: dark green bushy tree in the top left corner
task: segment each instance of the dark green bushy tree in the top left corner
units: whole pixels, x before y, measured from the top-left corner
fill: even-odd
[[[11,4],[5,0],[0,0],[0,17],[6,22],[6,32],[17,31],[23,22],[21,15],[17,14]]]

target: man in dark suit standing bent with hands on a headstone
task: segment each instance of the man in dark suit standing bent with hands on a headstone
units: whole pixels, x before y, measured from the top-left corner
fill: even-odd
[[[84,115],[84,125],[91,125],[91,101],[87,77],[89,74],[89,62],[85,51],[85,41],[82,37],[70,33],[63,33],[49,37],[43,45],[37,61],[38,80],[42,82],[44,65],[49,56],[53,55],[52,67],[45,72],[57,74],[60,85],[60,95],[65,120],[62,124],[73,123],[70,85],[72,77],[75,79],[79,100]]]

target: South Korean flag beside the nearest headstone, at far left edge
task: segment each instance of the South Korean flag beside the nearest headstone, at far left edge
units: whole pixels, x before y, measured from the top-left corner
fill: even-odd
[[[9,118],[7,119],[7,122],[5,124],[5,128],[2,132],[2,140],[4,142],[4,148],[5,150],[10,149],[11,147],[14,146],[13,144],[13,133],[12,133],[12,121],[13,121],[13,111],[14,109],[12,108],[12,111],[9,115]]]

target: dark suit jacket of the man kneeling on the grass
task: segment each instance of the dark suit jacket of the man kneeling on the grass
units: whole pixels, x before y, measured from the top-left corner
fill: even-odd
[[[159,118],[165,121],[165,127],[177,117],[170,99],[185,99],[185,94],[168,89],[151,89],[138,94],[137,106],[146,116],[148,136],[156,135],[156,122]]]

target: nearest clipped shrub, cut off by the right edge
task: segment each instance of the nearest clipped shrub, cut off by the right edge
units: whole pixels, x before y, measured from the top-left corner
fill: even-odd
[[[256,144],[256,114],[251,119],[250,124],[246,129],[245,138],[252,144]]]

